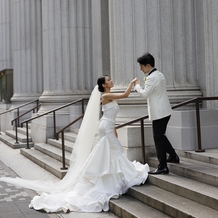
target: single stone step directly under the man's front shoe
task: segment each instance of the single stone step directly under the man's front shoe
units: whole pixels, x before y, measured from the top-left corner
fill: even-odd
[[[172,173],[169,175],[149,175],[147,182],[212,209],[218,209],[217,187]]]

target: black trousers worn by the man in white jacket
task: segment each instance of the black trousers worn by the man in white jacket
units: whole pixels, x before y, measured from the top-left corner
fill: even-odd
[[[169,122],[170,117],[171,115],[152,121],[153,137],[154,137],[157,158],[159,161],[159,166],[158,166],[159,169],[163,169],[167,167],[167,162],[166,162],[167,153],[170,156],[176,155],[174,148],[172,147],[170,141],[165,135],[167,124]]]

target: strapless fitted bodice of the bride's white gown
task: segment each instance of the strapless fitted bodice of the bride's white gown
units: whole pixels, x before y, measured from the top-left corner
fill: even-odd
[[[108,120],[115,123],[119,106],[116,101],[112,101],[102,106],[103,116],[101,120]]]

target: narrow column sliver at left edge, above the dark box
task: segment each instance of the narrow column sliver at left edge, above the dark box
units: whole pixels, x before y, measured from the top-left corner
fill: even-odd
[[[0,0],[0,71],[13,68],[13,2]]]

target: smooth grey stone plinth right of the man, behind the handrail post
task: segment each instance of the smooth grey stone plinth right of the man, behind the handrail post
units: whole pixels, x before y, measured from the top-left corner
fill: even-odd
[[[200,110],[202,150],[217,148],[218,110]],[[178,150],[198,150],[194,110],[174,111],[167,128],[167,137]]]

